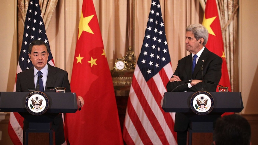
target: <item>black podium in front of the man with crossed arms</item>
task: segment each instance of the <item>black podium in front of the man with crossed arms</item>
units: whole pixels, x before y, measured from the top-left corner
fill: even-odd
[[[165,112],[183,113],[191,121],[188,129],[188,145],[192,145],[192,139],[194,139],[192,133],[210,132],[212,134],[213,123],[224,112],[241,112],[244,108],[240,92],[209,92],[214,100],[213,110],[207,115],[197,115],[190,107],[190,99],[194,93],[165,92],[161,101],[162,109]]]

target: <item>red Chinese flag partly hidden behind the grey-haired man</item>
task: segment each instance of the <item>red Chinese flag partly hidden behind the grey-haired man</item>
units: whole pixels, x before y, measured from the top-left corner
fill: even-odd
[[[224,44],[222,39],[221,27],[218,16],[218,9],[216,0],[207,0],[203,24],[209,31],[209,39],[205,45],[210,51],[220,56],[223,60],[221,68],[221,79],[219,84],[224,87],[228,87],[228,91],[231,92],[230,80],[227,71],[227,62],[224,51]],[[217,88],[218,91],[218,88]],[[224,113],[223,115],[229,115],[233,113]],[[222,115],[222,116],[223,116]]]

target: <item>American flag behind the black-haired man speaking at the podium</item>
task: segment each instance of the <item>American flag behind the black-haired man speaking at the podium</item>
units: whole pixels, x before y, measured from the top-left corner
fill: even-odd
[[[28,46],[35,39],[42,40],[49,46],[45,25],[41,16],[39,1],[31,0],[28,5],[25,19],[22,48],[17,65],[16,77],[19,72],[22,72],[33,66],[28,56]],[[49,52],[48,63],[54,66],[54,60],[51,51]],[[16,91],[16,86],[14,86],[14,91]],[[19,113],[10,113],[8,133],[11,140],[13,141],[13,144],[15,145],[22,144],[23,142],[23,120],[24,119],[21,117],[21,115],[19,115]]]

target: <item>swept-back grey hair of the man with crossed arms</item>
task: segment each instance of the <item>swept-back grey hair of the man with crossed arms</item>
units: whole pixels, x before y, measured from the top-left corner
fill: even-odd
[[[203,38],[204,42],[203,45],[205,46],[208,38],[209,38],[209,32],[208,30],[201,24],[191,24],[186,27],[186,31],[191,31],[194,34],[195,39]]]

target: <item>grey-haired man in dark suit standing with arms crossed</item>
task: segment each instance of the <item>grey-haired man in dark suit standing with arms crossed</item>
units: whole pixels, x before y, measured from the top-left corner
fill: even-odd
[[[196,92],[202,89],[208,92],[216,91],[216,85],[207,81],[219,83],[222,59],[205,47],[208,36],[208,30],[201,24],[191,24],[186,27],[186,50],[192,54],[178,61],[177,68],[166,86],[168,92]],[[204,79],[202,79],[201,66]],[[192,82],[185,84],[189,80]],[[177,132],[178,145],[186,145],[189,123],[190,120],[185,115],[176,113],[174,131]]]

